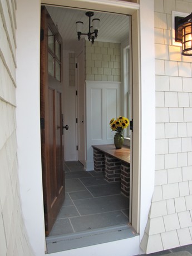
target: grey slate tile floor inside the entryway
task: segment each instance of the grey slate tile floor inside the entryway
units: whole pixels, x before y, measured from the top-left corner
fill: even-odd
[[[66,199],[50,237],[129,223],[129,199],[121,194],[120,182],[108,183],[77,161],[65,163],[65,179]]]

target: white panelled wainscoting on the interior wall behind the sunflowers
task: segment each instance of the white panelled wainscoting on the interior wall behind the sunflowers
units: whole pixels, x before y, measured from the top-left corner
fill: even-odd
[[[86,170],[93,170],[92,145],[114,143],[110,120],[120,115],[121,82],[86,81]]]

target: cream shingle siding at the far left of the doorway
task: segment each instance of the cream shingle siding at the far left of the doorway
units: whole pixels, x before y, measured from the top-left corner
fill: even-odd
[[[16,1],[0,0],[0,248],[32,255],[19,199],[16,139]]]

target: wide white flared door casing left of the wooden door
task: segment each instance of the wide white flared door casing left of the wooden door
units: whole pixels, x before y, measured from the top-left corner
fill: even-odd
[[[35,255],[45,251],[40,140],[40,1],[17,1],[16,119],[24,224]]]

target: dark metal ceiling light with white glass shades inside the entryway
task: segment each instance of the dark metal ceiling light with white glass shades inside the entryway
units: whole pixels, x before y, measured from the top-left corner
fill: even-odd
[[[78,40],[80,40],[81,35],[87,35],[88,41],[91,40],[92,44],[95,41],[95,38],[97,38],[98,31],[100,28],[100,19],[92,19],[92,26],[91,26],[91,17],[94,15],[93,12],[86,12],[85,15],[89,17],[89,25],[88,25],[88,33],[82,33],[83,28],[83,22],[77,21],[76,22],[76,32]]]

